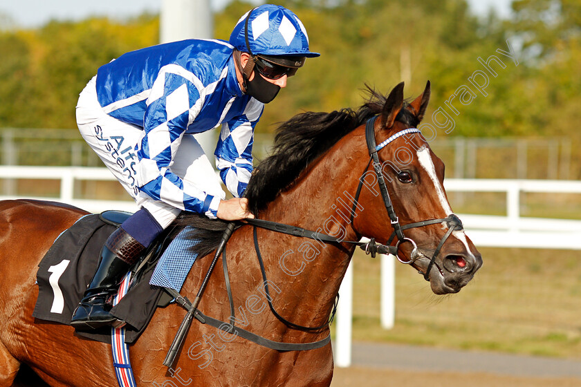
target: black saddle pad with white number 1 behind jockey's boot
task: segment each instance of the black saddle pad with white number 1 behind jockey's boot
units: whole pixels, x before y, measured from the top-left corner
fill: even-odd
[[[93,279],[102,245],[117,225],[98,214],[81,218],[63,232],[39,263],[39,295],[33,317],[69,325],[86,286]],[[149,285],[155,265],[140,272],[140,279],[112,310],[126,321],[125,342],[133,343],[147,327],[156,306],[169,301],[167,293]],[[111,328],[77,332],[82,337],[111,343]]]

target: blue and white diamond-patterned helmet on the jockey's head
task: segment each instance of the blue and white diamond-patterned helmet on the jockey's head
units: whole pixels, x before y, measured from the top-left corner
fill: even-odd
[[[248,46],[246,46],[247,37]],[[253,55],[299,57],[320,55],[308,50],[308,35],[297,15],[291,10],[273,4],[264,4],[246,12],[232,30],[230,44],[240,51]]]

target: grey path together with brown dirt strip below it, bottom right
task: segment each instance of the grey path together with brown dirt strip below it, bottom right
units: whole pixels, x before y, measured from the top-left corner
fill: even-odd
[[[353,343],[331,387],[581,387],[581,361]]]

